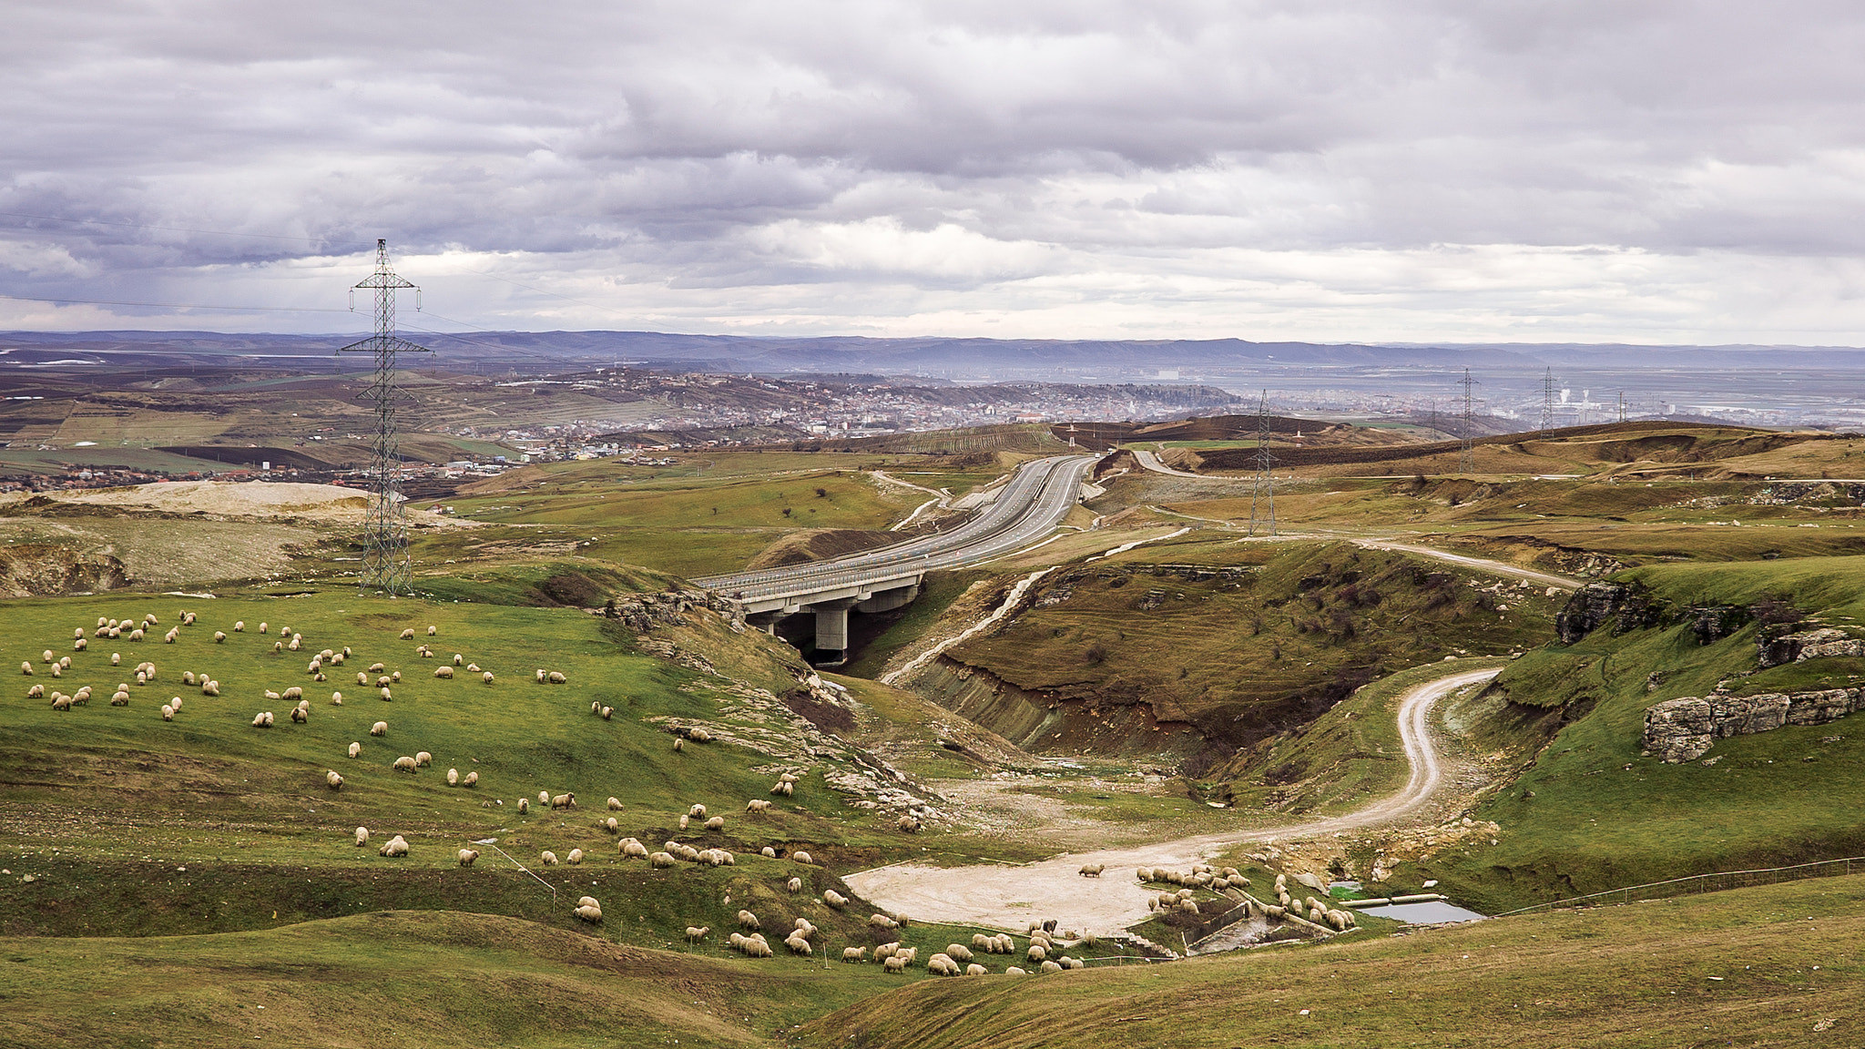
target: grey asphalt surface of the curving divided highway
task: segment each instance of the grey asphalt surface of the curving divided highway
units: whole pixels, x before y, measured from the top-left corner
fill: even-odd
[[[996,502],[972,521],[940,536],[908,539],[826,562],[709,575],[694,579],[694,582],[739,601],[770,601],[990,560],[1018,551],[1056,528],[1074,506],[1082,480],[1093,463],[1093,455],[1056,455],[1024,463],[1005,482]]]

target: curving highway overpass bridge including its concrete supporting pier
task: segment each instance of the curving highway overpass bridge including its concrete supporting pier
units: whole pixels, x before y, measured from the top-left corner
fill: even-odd
[[[1080,500],[1091,455],[1056,455],[1016,469],[996,502],[959,528],[878,551],[798,566],[694,579],[744,608],[746,622],[776,633],[787,616],[815,616],[819,651],[849,648],[849,612],[888,612],[919,595],[927,571],[964,567],[1046,536]]]

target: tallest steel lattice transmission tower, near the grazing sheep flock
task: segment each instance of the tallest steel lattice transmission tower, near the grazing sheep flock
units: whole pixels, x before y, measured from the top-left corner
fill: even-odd
[[[399,491],[401,439],[395,433],[395,401],[408,398],[408,394],[395,385],[395,355],[433,351],[395,336],[395,291],[414,286],[388,265],[388,241],[375,243],[375,273],[360,280],[356,287],[375,289],[375,334],[338,349],[338,353],[375,355],[375,381],[362,394],[356,394],[358,401],[375,401],[369,519],[364,524],[366,549],[356,590],[375,588],[382,594],[408,594],[414,590],[414,573],[408,564],[408,515],[401,506]],[[352,289],[352,310],[354,299],[356,291]],[[414,308],[420,310],[418,287]]]

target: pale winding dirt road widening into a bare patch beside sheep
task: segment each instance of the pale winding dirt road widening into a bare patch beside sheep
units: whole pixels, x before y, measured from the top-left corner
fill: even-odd
[[[1430,709],[1444,696],[1488,681],[1496,668],[1453,670],[1414,685],[1399,700],[1399,737],[1404,743],[1412,776],[1404,790],[1361,810],[1287,827],[1259,827],[1222,834],[1199,834],[1153,846],[1063,853],[1028,866],[934,868],[895,864],[850,874],[847,881],[863,898],[895,915],[923,922],[972,924],[1022,930],[1031,918],[1059,918],[1065,926],[1112,933],[1143,922],[1151,892],[1132,877],[1136,866],[1188,868],[1205,857],[1242,842],[1270,838],[1313,838],[1335,831],[1354,831],[1410,814],[1444,780],[1440,754],[1432,743]],[[1084,864],[1106,864],[1104,877],[1082,877]]]

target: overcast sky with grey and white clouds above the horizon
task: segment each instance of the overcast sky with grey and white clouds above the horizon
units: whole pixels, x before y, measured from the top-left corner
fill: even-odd
[[[0,329],[1865,345],[1856,2],[6,19]]]

